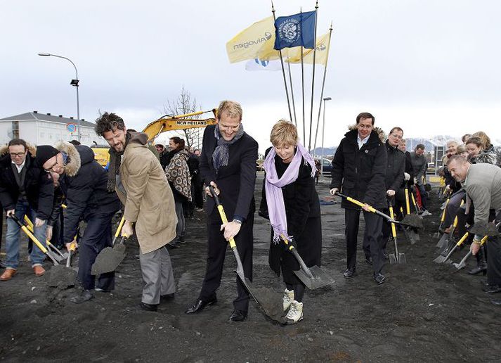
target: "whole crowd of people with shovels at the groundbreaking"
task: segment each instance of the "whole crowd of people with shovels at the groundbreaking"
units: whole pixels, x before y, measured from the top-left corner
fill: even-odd
[[[187,150],[185,141],[177,136],[169,139],[168,147],[156,142],[153,153],[146,134],[127,129],[118,115],[104,113],[96,120],[96,133],[110,145],[106,169],[94,160],[90,148],[78,143],[34,148],[21,139],[11,140],[0,149],[0,202],[7,215],[5,270],[0,280],[13,279],[18,269],[20,227],[16,219],[29,217],[34,222],[34,236],[44,246],[48,239],[67,248],[79,235],[83,220],[86,229],[79,238],[78,269],[82,288],[70,300],[84,303],[95,291],[112,291],[115,273],[94,276],[91,267],[100,250],[112,246],[112,217],[123,210],[121,234],[125,238],[135,234],[140,247],[144,281],[140,307],[156,311],[160,301],[176,292],[168,248],[178,248],[186,241],[186,217],[202,210],[205,191],[207,269],[200,293],[186,314],[202,312],[217,302],[227,241],[234,241],[245,278],[252,281],[258,144],[244,131],[239,103],[222,101],[217,119],[217,125],[204,130],[201,153]],[[376,211],[389,215],[392,208],[400,219],[410,213],[412,205],[421,217],[431,218],[425,147],[418,144],[406,151],[403,135],[402,127],[393,127],[386,137],[375,127],[374,115],[360,113],[332,160],[330,193],[342,198],[344,208],[346,279],[357,275],[360,211],[365,220],[365,262],[372,265],[376,284],[386,281],[386,244],[391,239],[391,224]],[[304,316],[306,286],[294,274],[299,262],[284,246],[297,248],[306,266],[321,265],[322,220],[315,190],[318,164],[299,142],[292,122],[278,121],[270,141],[258,214],[271,224],[269,265],[282,274],[285,284],[284,321],[296,324]],[[483,233],[492,230],[488,228],[491,222],[496,228],[501,222],[501,160],[488,136],[476,132],[464,135],[462,144],[449,141],[442,161],[440,195],[447,196],[448,202],[441,233],[455,238],[476,228],[469,241],[477,265],[470,273],[487,275],[482,281],[487,293],[501,292],[501,243],[495,234]],[[211,189],[228,221],[221,219]],[[63,203],[66,208],[61,212]],[[55,224],[61,233],[55,233]],[[489,237],[487,243],[484,236]],[[32,246],[30,263],[37,276],[45,272],[44,257],[40,248]],[[249,292],[240,277],[236,288],[230,321],[243,321]],[[493,303],[501,304],[498,300]]]

